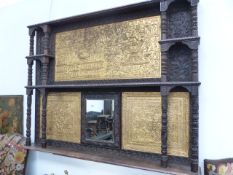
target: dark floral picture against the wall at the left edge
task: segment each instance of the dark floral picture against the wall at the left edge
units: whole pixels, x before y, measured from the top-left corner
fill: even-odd
[[[0,96],[0,134],[23,133],[23,96]]]

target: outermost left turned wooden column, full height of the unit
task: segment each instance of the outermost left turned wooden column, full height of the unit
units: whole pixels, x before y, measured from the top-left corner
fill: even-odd
[[[34,55],[34,37],[35,37],[35,30],[29,29],[29,36],[30,36],[30,50],[29,56]],[[33,66],[33,59],[27,58],[28,64],[28,83],[27,83],[27,120],[26,120],[26,146],[31,145],[31,105],[32,105],[32,94],[33,89],[30,87],[32,86],[32,66]]]

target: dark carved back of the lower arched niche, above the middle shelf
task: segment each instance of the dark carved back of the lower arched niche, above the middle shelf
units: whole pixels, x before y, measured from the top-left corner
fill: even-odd
[[[172,46],[168,53],[168,81],[192,80],[192,52],[182,44]]]

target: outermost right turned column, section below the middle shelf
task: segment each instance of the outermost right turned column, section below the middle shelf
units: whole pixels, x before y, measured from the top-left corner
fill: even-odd
[[[198,87],[193,87],[191,94],[192,112],[191,112],[191,171],[198,172]]]

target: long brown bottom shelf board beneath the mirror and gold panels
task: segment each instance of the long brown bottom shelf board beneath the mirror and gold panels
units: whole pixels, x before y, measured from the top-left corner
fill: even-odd
[[[171,164],[168,168],[160,167],[160,161],[142,161],[141,159],[135,159],[130,157],[120,157],[116,155],[98,155],[97,153],[81,153],[78,151],[68,151],[60,148],[41,148],[39,146],[25,146],[30,151],[39,151],[45,153],[51,153],[60,156],[78,158],[82,160],[89,160],[94,162],[108,163],[113,165],[119,165],[129,168],[137,168],[141,170],[153,171],[158,173],[165,173],[171,175],[196,175],[197,173],[190,172],[189,166],[174,165]]]

